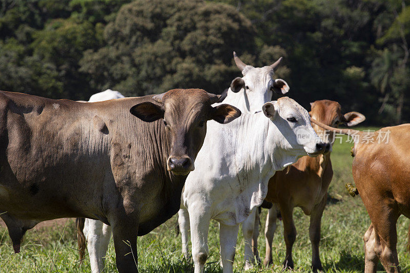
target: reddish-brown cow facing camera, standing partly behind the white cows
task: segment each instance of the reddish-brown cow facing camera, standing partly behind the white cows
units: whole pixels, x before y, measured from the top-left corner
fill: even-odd
[[[318,100],[311,103],[312,118],[337,127],[339,123],[353,126],[365,117],[358,112],[341,113],[340,104],[331,100]],[[326,132],[317,125],[313,128],[325,142],[332,142],[333,132]],[[264,264],[272,263],[272,239],[276,229],[276,218],[280,209],[283,219],[283,236],[286,243],[284,267],[293,268],[292,247],[296,239],[293,222],[294,207],[302,208],[310,215],[309,234],[312,243],[312,269],[322,270],[319,258],[320,222],[327,200],[327,188],[332,180],[333,170],[330,153],[318,157],[304,156],[296,163],[276,172],[269,180],[268,194],[265,200],[276,203],[268,214],[265,226],[266,253]]]

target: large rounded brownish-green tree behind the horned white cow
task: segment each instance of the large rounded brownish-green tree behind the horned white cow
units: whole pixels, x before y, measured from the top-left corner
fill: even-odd
[[[229,5],[138,0],[122,6],[104,30],[107,46],[87,51],[80,71],[95,90],[220,93],[239,74],[232,52],[256,52],[254,34],[251,22]]]

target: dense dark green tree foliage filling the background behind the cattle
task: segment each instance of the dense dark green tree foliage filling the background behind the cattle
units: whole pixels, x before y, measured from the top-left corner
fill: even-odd
[[[0,0],[0,89],[88,99],[198,87],[220,93],[284,56],[309,109],[339,101],[369,123],[410,121],[409,0]]]

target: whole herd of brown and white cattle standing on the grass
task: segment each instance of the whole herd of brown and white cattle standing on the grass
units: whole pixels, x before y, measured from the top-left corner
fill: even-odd
[[[174,89],[125,98],[107,90],[88,102],[0,91],[0,216],[15,253],[37,223],[77,217],[80,260],[104,270],[113,235],[119,272],[137,271],[137,236],[178,212],[182,253],[195,272],[208,258],[210,220],[219,223],[220,262],[233,271],[239,224],[245,269],[259,260],[258,207],[271,204],[264,264],[272,263],[276,218],[283,219],[285,268],[293,268],[293,209],[310,215],[312,269],[321,271],[320,222],[332,180],[333,134],[355,137],[353,176],[372,220],[364,235],[365,271],[399,272],[396,221],[410,217],[410,125],[383,128],[380,142],[352,129],[358,112],[319,100],[308,113],[274,79],[274,64],[255,68],[234,52],[243,77],[223,95]],[[312,123],[311,123],[312,122]],[[320,137],[319,137],[320,136]],[[369,141],[373,140],[373,141]],[[192,251],[189,249],[191,237]],[[191,252],[191,253],[190,253]]]

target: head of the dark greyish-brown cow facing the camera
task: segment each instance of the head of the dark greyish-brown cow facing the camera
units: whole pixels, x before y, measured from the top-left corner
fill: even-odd
[[[173,89],[153,96],[156,103],[139,103],[130,112],[146,122],[162,119],[170,149],[167,169],[174,175],[188,175],[203,144],[207,120],[228,123],[241,115],[229,104],[212,107],[218,98],[201,89]]]

